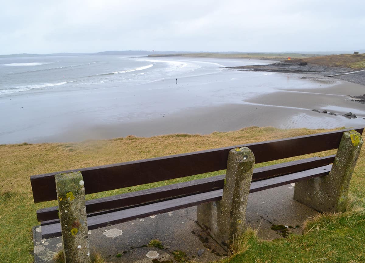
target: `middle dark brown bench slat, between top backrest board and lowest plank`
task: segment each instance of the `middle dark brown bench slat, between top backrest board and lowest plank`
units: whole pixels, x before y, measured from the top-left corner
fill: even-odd
[[[326,157],[312,157],[255,168],[253,171],[252,182],[327,165],[333,163],[334,157],[335,155]],[[187,196],[196,193],[204,193],[216,189],[222,189],[224,185],[224,178],[224,175],[218,175],[184,183],[177,183],[132,193],[114,195],[112,197],[92,199],[86,201],[86,211],[88,214],[90,214],[102,210],[120,210],[123,207],[141,205],[147,202],[152,203],[161,199],[176,198],[179,196]],[[37,210],[37,219],[38,221],[55,220],[58,219],[57,213],[58,206],[42,208]]]

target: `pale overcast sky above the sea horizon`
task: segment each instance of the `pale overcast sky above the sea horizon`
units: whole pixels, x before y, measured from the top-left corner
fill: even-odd
[[[364,0],[2,0],[0,54],[365,49]]]

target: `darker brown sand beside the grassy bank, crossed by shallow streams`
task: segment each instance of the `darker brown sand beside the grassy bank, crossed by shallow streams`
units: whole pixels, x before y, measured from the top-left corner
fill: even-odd
[[[247,99],[239,104],[193,107],[146,121],[84,126],[79,129],[76,127],[56,136],[42,138],[42,141],[81,141],[128,135],[150,137],[172,133],[209,134],[248,126],[274,126],[284,129],[364,127],[364,104],[354,103],[346,96],[358,94],[364,88],[362,85],[342,81],[330,88],[277,91]],[[314,108],[327,110],[328,113],[332,111],[338,116],[311,111]],[[348,119],[341,116],[349,111],[358,118]]]

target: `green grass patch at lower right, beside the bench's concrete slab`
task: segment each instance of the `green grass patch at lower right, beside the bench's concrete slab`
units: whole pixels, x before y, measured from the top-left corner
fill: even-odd
[[[265,241],[249,231],[223,262],[365,262],[364,203],[357,206],[345,213],[314,216],[305,223],[303,235]]]

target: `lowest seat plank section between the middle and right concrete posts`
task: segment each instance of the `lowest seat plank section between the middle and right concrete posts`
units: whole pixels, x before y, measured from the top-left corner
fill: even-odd
[[[332,164],[328,164],[326,166],[297,172],[294,174],[288,174],[283,176],[277,176],[274,178],[269,178],[257,182],[252,182],[250,186],[250,193],[255,193],[258,191],[262,191],[269,188],[274,188],[278,186],[282,186],[289,183],[295,183],[301,180],[308,180],[313,177],[318,177],[322,175],[328,175],[331,171]]]

